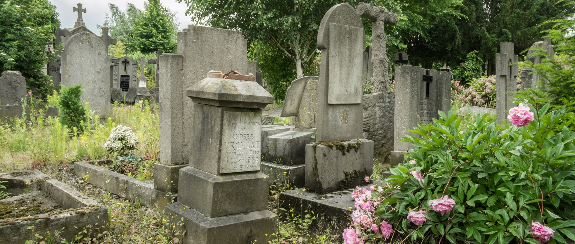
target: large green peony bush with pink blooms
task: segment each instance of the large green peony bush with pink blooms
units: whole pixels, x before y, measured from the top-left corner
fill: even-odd
[[[352,194],[345,244],[575,241],[575,115],[521,102],[505,125],[450,111],[410,131],[405,163]]]

